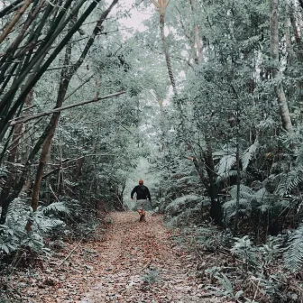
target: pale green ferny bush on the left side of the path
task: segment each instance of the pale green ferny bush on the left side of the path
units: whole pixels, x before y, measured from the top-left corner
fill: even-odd
[[[64,247],[63,241],[89,238],[96,231],[97,221],[82,215],[77,200],[53,202],[33,212],[25,199],[14,199],[5,225],[0,225],[0,259],[11,262],[24,252],[50,253],[53,248]]]

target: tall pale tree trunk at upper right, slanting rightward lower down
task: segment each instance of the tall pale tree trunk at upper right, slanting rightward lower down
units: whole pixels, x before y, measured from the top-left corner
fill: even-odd
[[[274,88],[280,106],[282,126],[289,132],[292,130],[289,106],[284,94],[283,86],[280,83],[278,2],[279,0],[271,0],[271,60],[274,64],[274,67],[272,68],[272,78],[278,82],[275,84]]]

